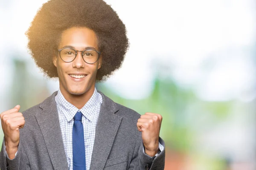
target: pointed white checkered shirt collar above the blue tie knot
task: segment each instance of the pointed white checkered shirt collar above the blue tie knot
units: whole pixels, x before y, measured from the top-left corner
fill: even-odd
[[[101,104],[101,100],[99,97],[98,91],[94,88],[93,95],[90,97],[88,102],[80,109],[81,113],[88,119],[90,122],[96,115],[96,106]],[[60,89],[58,90],[58,94],[55,96],[55,101],[57,103],[58,108],[64,113],[64,116],[67,119],[67,122],[70,122],[77,111],[79,111],[76,106],[72,105],[68,102],[64,96],[61,94]]]

